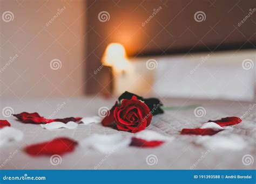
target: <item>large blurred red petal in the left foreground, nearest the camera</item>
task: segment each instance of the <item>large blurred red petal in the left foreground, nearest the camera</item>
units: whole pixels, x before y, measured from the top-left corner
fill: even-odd
[[[62,155],[75,150],[77,144],[77,141],[69,138],[56,138],[51,141],[27,146],[25,152],[33,156],[52,154]]]

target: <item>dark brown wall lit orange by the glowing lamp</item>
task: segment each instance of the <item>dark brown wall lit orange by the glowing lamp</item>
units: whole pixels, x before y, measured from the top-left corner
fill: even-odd
[[[197,51],[212,53],[218,49],[237,51],[242,47],[253,48],[256,43],[252,29],[256,12],[246,18],[250,9],[255,8],[253,0],[89,0],[88,6],[87,57],[90,62],[86,70],[86,91],[89,94],[109,89],[109,82],[105,81],[109,70],[104,68],[97,75],[93,75],[93,71],[101,65],[104,49],[112,42],[123,44],[132,57],[180,52],[190,55]],[[106,19],[99,19],[104,11]],[[198,11],[205,13],[202,21],[194,18]]]

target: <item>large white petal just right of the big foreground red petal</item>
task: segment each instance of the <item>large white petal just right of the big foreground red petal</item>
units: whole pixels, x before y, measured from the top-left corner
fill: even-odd
[[[79,145],[82,147],[92,148],[93,150],[104,154],[128,147],[130,143],[130,138],[124,138],[119,133],[112,135],[93,134],[79,141]]]

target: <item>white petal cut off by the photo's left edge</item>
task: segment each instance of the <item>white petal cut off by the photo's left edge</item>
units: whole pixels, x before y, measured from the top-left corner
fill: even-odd
[[[22,138],[23,132],[21,130],[9,126],[0,129],[0,147],[21,141]]]

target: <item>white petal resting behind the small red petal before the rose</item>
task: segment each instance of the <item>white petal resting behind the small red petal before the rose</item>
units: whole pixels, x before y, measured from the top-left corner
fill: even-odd
[[[134,133],[134,137],[144,139],[146,141],[172,141],[174,139],[174,137],[164,136],[152,130],[143,130],[138,133]]]

